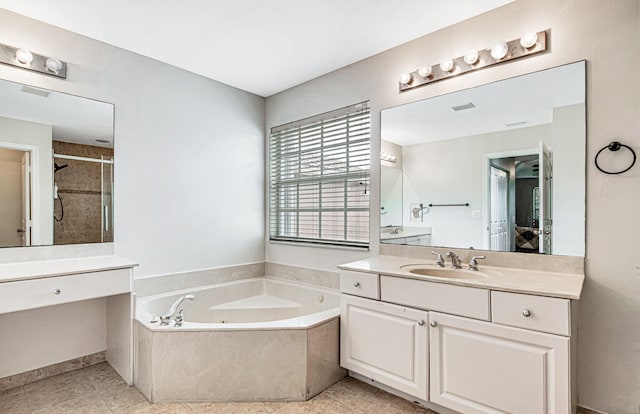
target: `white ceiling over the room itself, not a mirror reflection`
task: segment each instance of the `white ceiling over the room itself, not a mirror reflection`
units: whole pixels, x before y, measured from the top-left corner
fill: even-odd
[[[269,96],[511,1],[0,0],[0,7]]]

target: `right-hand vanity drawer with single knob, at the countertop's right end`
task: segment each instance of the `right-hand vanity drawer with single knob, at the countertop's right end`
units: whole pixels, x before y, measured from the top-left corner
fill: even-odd
[[[491,314],[492,321],[501,325],[571,335],[568,299],[491,292]]]

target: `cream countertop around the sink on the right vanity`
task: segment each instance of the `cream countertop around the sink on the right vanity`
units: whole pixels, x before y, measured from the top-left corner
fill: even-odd
[[[584,274],[494,267],[484,265],[482,262],[479,264],[479,277],[473,279],[423,276],[410,273],[408,270],[401,268],[402,266],[420,264],[434,266],[435,260],[375,256],[357,262],[345,263],[338,267],[343,270],[352,270],[355,272],[378,273],[410,279],[428,280],[430,282],[565,299],[580,299],[582,285],[584,283]],[[447,263],[447,268],[449,268],[449,266],[449,263]],[[466,267],[465,265],[463,268]]]

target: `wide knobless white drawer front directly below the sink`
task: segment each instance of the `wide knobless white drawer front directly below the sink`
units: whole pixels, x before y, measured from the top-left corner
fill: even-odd
[[[487,289],[380,276],[380,297],[414,308],[490,320]]]

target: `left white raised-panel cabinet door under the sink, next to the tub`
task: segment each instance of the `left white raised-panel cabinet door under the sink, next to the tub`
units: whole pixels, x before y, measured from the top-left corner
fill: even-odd
[[[427,399],[428,313],[341,295],[340,364]]]

